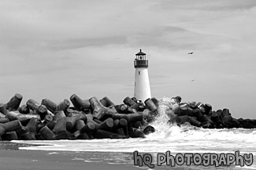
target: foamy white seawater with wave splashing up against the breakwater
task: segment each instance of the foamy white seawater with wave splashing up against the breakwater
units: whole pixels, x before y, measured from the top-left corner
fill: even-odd
[[[158,154],[165,154],[166,151],[175,157],[176,154],[252,154],[253,164],[250,166],[232,164],[230,166],[203,166],[203,165],[182,165],[172,169],[256,169],[256,129],[232,128],[232,129],[206,129],[197,128],[191,125],[170,125],[169,118],[165,114],[168,109],[169,99],[162,99],[158,112],[160,115],[151,123],[156,132],[151,133],[144,139],[91,139],[91,140],[56,140],[56,141],[13,141],[17,143],[43,144],[44,146],[22,147],[20,150],[51,150],[49,154],[76,155],[87,152],[90,157],[74,156],[73,160],[81,161],[103,161],[109,164],[134,164],[133,153],[138,151],[143,154],[150,154],[153,157],[152,164],[157,165]],[[101,153],[101,154],[95,154]],[[74,154],[75,155],[75,154]],[[100,157],[98,155],[101,155]],[[150,169],[147,165],[141,168]],[[167,169],[169,165],[162,164],[154,169]]]

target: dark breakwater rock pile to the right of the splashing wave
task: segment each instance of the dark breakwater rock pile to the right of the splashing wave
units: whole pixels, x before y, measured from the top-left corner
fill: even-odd
[[[256,128],[256,120],[232,118],[228,108],[213,110],[209,103],[170,103],[169,122],[191,125],[202,128]]]

